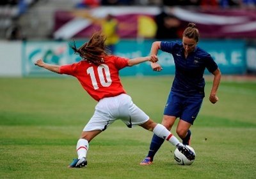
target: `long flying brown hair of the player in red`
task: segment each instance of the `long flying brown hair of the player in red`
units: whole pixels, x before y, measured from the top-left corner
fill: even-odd
[[[76,48],[75,42],[74,45],[70,45],[70,47],[74,50],[74,53],[79,54],[84,61],[100,65],[104,62],[102,57],[108,55],[105,41],[106,36],[104,36],[101,31],[97,31],[94,32],[90,40],[81,47]]]

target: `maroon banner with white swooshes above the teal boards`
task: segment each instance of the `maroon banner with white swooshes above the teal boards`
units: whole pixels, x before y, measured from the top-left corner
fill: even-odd
[[[95,29],[100,29],[99,20],[111,13],[118,20],[120,38],[154,38],[157,16],[161,13],[179,20],[183,31],[189,22],[196,24],[200,38],[241,39],[256,38],[255,9],[185,8],[185,7],[99,7],[71,11],[56,11],[54,38],[88,38]],[[168,23],[168,22],[165,22]],[[141,31],[143,29],[145,31]],[[152,32],[148,36],[145,32]],[[171,31],[170,31],[171,32]]]

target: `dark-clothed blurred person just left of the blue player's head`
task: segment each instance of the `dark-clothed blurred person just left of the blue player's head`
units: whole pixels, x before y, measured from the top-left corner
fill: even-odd
[[[162,10],[159,15],[156,15],[155,19],[157,24],[156,39],[180,38],[180,20],[177,17],[168,15],[164,10]]]

